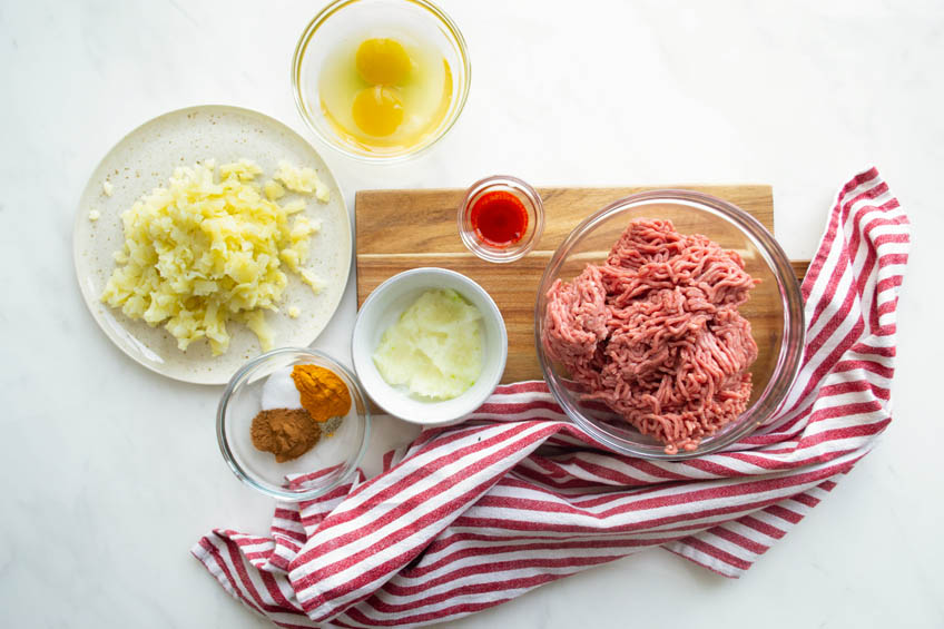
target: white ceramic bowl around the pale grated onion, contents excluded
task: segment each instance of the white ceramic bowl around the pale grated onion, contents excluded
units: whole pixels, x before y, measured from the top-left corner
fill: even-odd
[[[386,328],[432,288],[452,288],[482,313],[482,373],[464,393],[442,402],[414,397],[405,386],[391,386],[373,360]],[[354,324],[351,354],[361,385],[384,411],[413,424],[446,425],[462,421],[498,386],[508,360],[508,332],[495,302],[475,282],[446,268],[413,268],[394,275],[370,294]]]

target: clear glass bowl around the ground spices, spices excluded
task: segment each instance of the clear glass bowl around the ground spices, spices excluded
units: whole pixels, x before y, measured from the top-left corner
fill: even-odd
[[[253,419],[262,410],[262,390],[274,371],[314,364],[336,373],[351,392],[351,411],[335,433],[305,454],[277,463],[271,452],[253,445]],[[297,502],[336,488],[357,470],[371,434],[371,411],[357,379],[331,356],[314,350],[283,347],[246,363],[226,385],[216,414],[219,451],[240,481],[272,498]],[[287,475],[326,473],[289,484]]]

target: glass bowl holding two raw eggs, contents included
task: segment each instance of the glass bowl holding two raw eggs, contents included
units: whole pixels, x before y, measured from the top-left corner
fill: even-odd
[[[426,0],[335,0],[302,33],[292,63],[308,127],[366,161],[432,146],[459,118],[470,80],[462,33]]]

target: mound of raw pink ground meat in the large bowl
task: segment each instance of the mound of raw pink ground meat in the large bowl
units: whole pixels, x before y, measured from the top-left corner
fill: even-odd
[[[756,283],[737,252],[669,220],[633,220],[606,263],[554,282],[542,342],[586,400],[669,454],[695,450],[750,397],[757,344],[738,306]]]

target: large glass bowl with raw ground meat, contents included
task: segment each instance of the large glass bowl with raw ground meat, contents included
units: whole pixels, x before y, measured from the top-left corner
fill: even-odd
[[[535,341],[568,416],[607,448],[688,459],[771,419],[804,346],[796,273],[751,215],[690,190],[577,226],[538,291]]]

